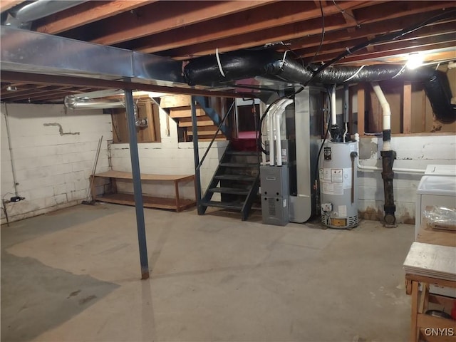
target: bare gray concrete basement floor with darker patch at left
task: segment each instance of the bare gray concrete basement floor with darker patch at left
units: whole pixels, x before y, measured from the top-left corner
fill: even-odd
[[[1,227],[1,341],[406,341],[413,226],[77,206]]]

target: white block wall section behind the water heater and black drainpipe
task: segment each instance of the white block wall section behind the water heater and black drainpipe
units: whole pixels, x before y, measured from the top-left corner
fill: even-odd
[[[456,164],[456,135],[416,135],[391,139],[397,159],[394,167],[425,170],[427,165]],[[381,138],[361,138],[361,165],[381,167]],[[416,190],[423,174],[395,172],[396,220],[415,223]],[[358,210],[364,219],[383,219],[383,180],[380,171],[358,170]]]

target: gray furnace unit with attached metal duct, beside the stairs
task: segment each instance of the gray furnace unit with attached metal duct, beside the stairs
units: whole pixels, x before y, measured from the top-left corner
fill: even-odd
[[[261,212],[265,224],[304,223],[317,214],[314,183],[318,176],[315,172],[324,94],[321,88],[304,88],[286,105],[281,127],[274,131],[281,131],[282,165],[277,165],[277,160],[271,163],[268,155],[264,156],[268,165],[260,167]],[[266,132],[264,136],[268,138]],[[267,150],[269,140],[270,136],[264,142]]]

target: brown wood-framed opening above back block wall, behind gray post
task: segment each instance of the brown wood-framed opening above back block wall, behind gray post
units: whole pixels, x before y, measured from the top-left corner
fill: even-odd
[[[137,112],[136,138],[138,142],[160,142],[160,115],[158,106],[150,100],[135,99]],[[111,110],[113,142],[128,143],[127,113],[124,108]]]

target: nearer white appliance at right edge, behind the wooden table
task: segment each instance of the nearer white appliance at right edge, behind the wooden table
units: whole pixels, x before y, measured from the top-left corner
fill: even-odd
[[[456,176],[425,175],[416,190],[415,240],[424,219],[426,207],[441,206],[456,209]]]

